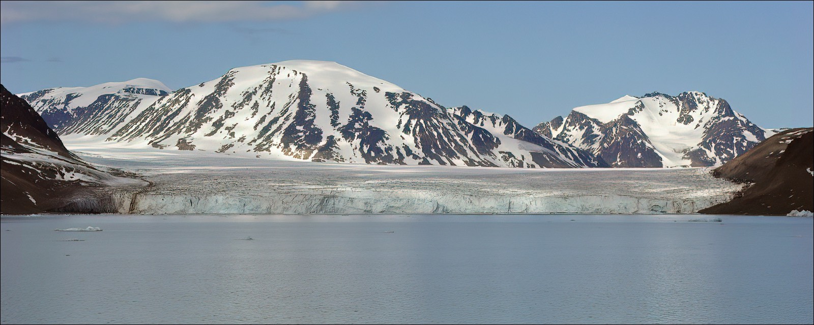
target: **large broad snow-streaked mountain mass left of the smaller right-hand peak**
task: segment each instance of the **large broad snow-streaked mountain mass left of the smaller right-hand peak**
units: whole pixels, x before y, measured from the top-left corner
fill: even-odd
[[[154,80],[131,80],[45,89],[23,98],[60,134],[160,149],[339,163],[606,166],[509,116],[475,118],[483,114],[440,106],[338,63],[238,67],[216,80],[165,92]]]

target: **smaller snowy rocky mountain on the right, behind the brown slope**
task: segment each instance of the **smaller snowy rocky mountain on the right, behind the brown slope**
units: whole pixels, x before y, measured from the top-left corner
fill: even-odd
[[[752,124],[724,99],[686,92],[648,93],[576,107],[535,132],[588,150],[612,167],[716,166],[773,132]]]

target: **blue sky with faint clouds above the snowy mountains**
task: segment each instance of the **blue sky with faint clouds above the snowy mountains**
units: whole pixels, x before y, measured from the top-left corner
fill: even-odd
[[[701,91],[814,124],[814,2],[0,2],[13,93],[335,61],[532,127],[626,94]]]

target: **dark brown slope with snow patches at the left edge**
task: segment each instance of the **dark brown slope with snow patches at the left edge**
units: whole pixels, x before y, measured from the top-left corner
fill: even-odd
[[[85,189],[132,184],[85,163],[23,99],[0,85],[0,213],[31,214],[74,204]]]

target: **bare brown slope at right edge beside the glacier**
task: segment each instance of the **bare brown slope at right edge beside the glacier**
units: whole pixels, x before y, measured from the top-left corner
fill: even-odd
[[[754,183],[732,201],[699,212],[711,215],[786,215],[814,210],[814,129],[777,133],[712,171],[737,183]]]

